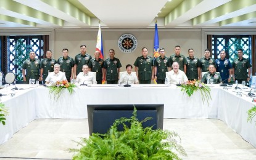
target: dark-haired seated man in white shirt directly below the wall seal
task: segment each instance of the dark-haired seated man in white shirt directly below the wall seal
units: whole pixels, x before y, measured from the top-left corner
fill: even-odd
[[[133,69],[133,66],[128,64],[126,65],[126,71],[123,73],[120,77],[120,81],[122,81],[122,84],[137,84],[138,83],[138,78],[136,74],[131,73],[131,70]],[[128,83],[127,83],[128,81]]]

